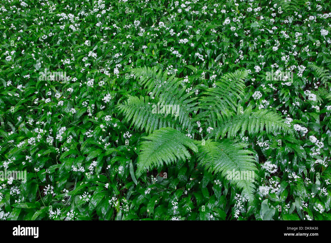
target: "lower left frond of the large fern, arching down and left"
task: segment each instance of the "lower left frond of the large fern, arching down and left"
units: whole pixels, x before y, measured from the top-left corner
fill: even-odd
[[[192,139],[172,128],[160,128],[142,139],[145,141],[139,145],[138,177],[153,166],[162,166],[164,162],[169,165],[177,159],[190,158],[191,155],[187,148],[194,152],[198,151]]]

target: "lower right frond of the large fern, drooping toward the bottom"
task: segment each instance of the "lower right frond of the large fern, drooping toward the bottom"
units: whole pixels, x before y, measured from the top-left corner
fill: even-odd
[[[211,172],[221,173],[226,177],[228,173],[250,171],[255,178],[255,159],[251,155],[252,151],[243,149],[248,144],[234,143],[229,139],[220,142],[211,142],[209,140],[198,143],[198,160],[201,166],[205,166]],[[251,179],[253,179],[251,178]],[[243,189],[251,199],[254,197],[255,185],[251,180],[231,180],[238,189]]]

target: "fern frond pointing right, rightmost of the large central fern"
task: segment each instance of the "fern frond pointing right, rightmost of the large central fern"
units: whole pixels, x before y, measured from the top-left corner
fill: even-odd
[[[240,130],[241,136],[244,136],[246,131],[254,136],[264,129],[268,134],[275,135],[280,132],[293,134],[292,128],[284,122],[284,119],[278,113],[268,109],[252,110],[249,106],[240,115],[223,115],[220,119],[218,127],[209,137],[215,136],[218,139],[227,135],[228,138],[233,138]]]

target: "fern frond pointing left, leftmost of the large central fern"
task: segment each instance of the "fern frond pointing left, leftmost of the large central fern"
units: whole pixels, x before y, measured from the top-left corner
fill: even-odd
[[[181,125],[173,118],[172,114],[159,114],[153,111],[153,105],[149,96],[140,98],[128,95],[128,99],[116,107],[118,111],[124,114],[128,122],[132,119],[131,125],[137,129],[145,129],[148,133],[162,127],[180,128]]]

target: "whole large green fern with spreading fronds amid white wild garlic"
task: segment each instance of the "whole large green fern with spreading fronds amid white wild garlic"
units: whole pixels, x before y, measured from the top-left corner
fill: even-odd
[[[157,67],[139,67],[132,74],[145,88],[146,96],[131,96],[117,105],[127,122],[144,130],[139,145],[136,175],[146,170],[169,165],[179,160],[196,158],[198,165],[209,172],[221,173],[257,170],[255,151],[249,144],[234,139],[239,133],[256,135],[292,133],[282,117],[271,109],[239,109],[238,100],[244,95],[248,71],[226,73],[206,87],[197,97],[195,89],[186,89],[182,80],[168,76]],[[199,86],[201,89],[202,86]],[[176,112],[155,112],[153,107],[177,106]],[[194,156],[193,156],[194,155]],[[256,177],[256,174],[253,173]],[[230,180],[253,199],[256,186],[248,180]]]

